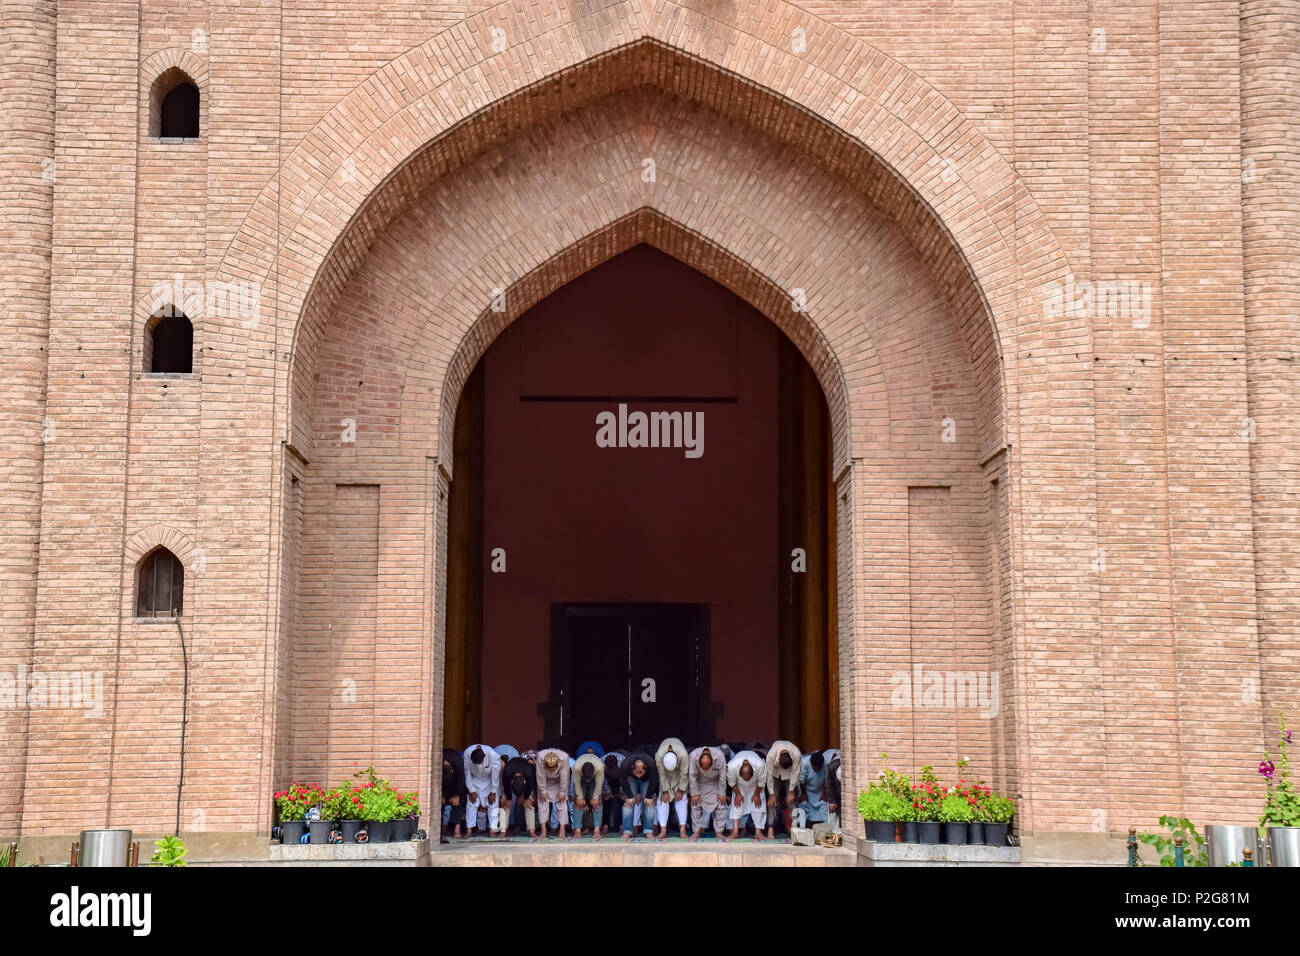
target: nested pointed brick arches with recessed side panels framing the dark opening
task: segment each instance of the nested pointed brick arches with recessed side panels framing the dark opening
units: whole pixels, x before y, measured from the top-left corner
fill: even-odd
[[[615,9],[640,8],[592,16]],[[556,70],[482,104],[458,90],[494,87],[490,48],[441,79],[413,51],[303,140],[231,246],[224,272],[282,278],[278,320],[252,338],[292,343],[274,481],[294,584],[273,640],[280,672],[311,678],[278,680],[266,775],[384,754],[432,792],[460,390],[510,321],[645,242],[767,315],[826,393],[853,784],[880,750],[901,762],[974,750],[1032,813],[1017,620],[1031,613],[1027,568],[1052,568],[1054,585],[1086,576],[1053,523],[1091,520],[1086,471],[1040,451],[1091,447],[1088,395],[1070,386],[1087,330],[1044,316],[1035,294],[1066,271],[1054,241],[997,153],[863,44],[853,87],[805,64],[807,78],[777,94],[758,85],[772,68],[740,48],[710,60],[658,22],[638,29],[603,51],[552,51]],[[541,51],[572,23],[519,30],[520,51]],[[764,64],[789,62],[770,52]],[[828,96],[840,125],[805,105]],[[1035,428],[1022,438],[1026,410]],[[1031,533],[1026,462],[1046,489]],[[918,662],[996,674],[998,713],[900,705],[896,679]],[[348,706],[339,680],[352,682]],[[304,766],[292,740],[313,726],[330,745]]]

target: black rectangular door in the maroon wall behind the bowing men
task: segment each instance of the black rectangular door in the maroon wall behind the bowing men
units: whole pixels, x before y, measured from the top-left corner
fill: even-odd
[[[708,607],[558,604],[551,609],[546,737],[634,748],[712,735]]]

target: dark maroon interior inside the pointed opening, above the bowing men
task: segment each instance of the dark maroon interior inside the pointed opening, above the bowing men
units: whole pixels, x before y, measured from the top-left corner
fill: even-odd
[[[701,454],[638,446],[634,414],[702,419]],[[602,440],[602,416],[627,418],[627,442],[623,424]],[[767,316],[636,246],[500,333],[465,382],[454,441],[445,745],[559,735],[552,614],[578,605],[707,609],[705,683],[664,735],[838,744],[829,416]],[[566,717],[571,730],[594,732]]]

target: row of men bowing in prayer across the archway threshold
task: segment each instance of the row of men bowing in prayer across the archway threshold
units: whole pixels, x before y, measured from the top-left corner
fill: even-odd
[[[789,740],[770,747],[719,744],[688,750],[677,737],[608,753],[594,740],[575,754],[558,747],[520,753],[510,744],[471,744],[442,752],[443,840],[526,830],[594,840],[621,825],[623,839],[663,840],[673,821],[681,839],[698,840],[712,825],[729,840],[753,830],[755,840],[790,826],[838,827],[840,752],[802,753]]]

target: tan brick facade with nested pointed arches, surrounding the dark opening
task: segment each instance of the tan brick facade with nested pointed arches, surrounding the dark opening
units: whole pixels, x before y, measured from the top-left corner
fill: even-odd
[[[1257,817],[1300,721],[1300,0],[0,18],[0,834],[172,825],[182,635],[182,830],[372,760],[436,800],[460,389],[642,242],[822,381],[852,787],[965,757],[1027,831]],[[151,135],[169,70],[198,139]],[[144,371],[160,304],[192,373]],[[159,545],[181,628],[134,617]]]

